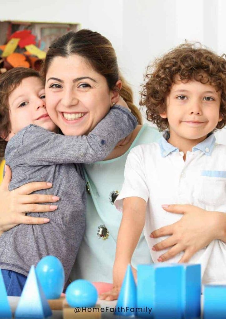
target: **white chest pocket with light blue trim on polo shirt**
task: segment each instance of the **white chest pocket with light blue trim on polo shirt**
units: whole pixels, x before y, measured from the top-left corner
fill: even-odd
[[[226,171],[201,172],[200,201],[203,204],[219,205],[226,199]]]

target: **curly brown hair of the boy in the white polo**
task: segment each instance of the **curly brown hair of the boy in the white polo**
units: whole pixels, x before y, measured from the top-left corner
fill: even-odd
[[[160,132],[168,128],[167,118],[162,118],[160,114],[166,111],[166,98],[176,75],[181,81],[196,80],[221,91],[220,113],[223,119],[215,130],[222,129],[226,124],[225,55],[218,56],[197,42],[181,44],[147,67],[140,100],[140,105],[147,107],[147,120],[156,124]]]

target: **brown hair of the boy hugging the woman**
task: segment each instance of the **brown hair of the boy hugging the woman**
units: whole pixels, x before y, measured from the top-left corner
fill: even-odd
[[[14,68],[0,76],[0,158],[4,156],[7,142],[4,140],[11,130],[9,114],[9,95],[23,79],[29,77],[41,78],[40,74],[29,68]]]

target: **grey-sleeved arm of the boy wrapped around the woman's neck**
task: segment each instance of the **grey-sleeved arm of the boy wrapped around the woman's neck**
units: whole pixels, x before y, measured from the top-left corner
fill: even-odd
[[[31,125],[18,152],[31,166],[92,163],[107,157],[136,125],[137,120],[128,109],[114,106],[87,136],[64,136]]]

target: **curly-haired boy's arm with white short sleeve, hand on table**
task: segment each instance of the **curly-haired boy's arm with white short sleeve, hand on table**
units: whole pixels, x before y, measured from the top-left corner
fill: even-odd
[[[123,217],[117,238],[113,268],[113,289],[103,293],[100,299],[117,299],[126,268],[131,263],[133,252],[144,228],[149,191],[143,168],[141,148],[133,149],[128,155],[124,176],[123,188],[114,203],[118,210],[123,208]],[[133,273],[136,276],[135,269],[133,269]]]

